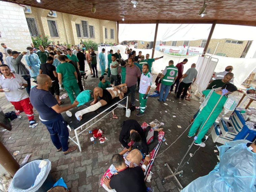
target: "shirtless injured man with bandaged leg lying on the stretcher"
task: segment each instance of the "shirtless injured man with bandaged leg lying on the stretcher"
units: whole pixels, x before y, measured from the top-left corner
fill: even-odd
[[[94,101],[91,103],[91,106],[77,111],[75,113],[75,117],[78,121],[82,120],[82,116],[84,114],[87,114],[91,111],[95,111],[101,106],[104,106],[111,102],[112,99],[119,97],[119,99],[124,98],[124,94],[127,92],[127,87],[126,84],[121,84],[119,86],[111,87],[111,88],[106,88],[102,89],[100,87],[95,87],[93,90],[93,95],[94,95]],[[100,100],[97,101],[97,97],[99,96]]]

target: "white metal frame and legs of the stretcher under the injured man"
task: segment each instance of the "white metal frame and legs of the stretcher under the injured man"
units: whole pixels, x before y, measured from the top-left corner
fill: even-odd
[[[86,131],[88,128],[90,128],[91,126],[93,126],[94,124],[96,124],[98,121],[100,121],[101,119],[103,119],[104,117],[106,117],[109,113],[111,113],[112,111],[114,111],[118,106],[122,106],[122,107],[126,108],[126,110],[127,110],[127,108],[128,108],[128,97],[129,97],[129,95],[125,96],[125,97],[124,97],[123,99],[121,99],[120,101],[118,101],[118,102],[112,104],[111,106],[109,106],[108,108],[106,108],[105,110],[103,110],[101,113],[99,113],[98,115],[96,115],[95,117],[93,117],[92,119],[90,119],[89,121],[85,122],[83,125],[80,125],[79,127],[75,128],[75,129],[71,129],[71,128],[69,127],[69,125],[67,125],[69,131],[74,130],[74,132],[75,132],[75,136],[73,136],[73,137],[68,136],[68,138],[69,138],[71,141],[73,141],[73,142],[78,146],[80,152],[82,152],[82,149],[81,149],[81,145],[80,145],[80,141],[79,141],[78,135],[80,135],[81,133],[83,133],[84,131]],[[120,102],[123,101],[123,100],[125,100],[125,99],[126,99],[126,106],[120,104]],[[83,126],[85,126],[86,124],[90,123],[92,120],[96,119],[98,116],[102,115],[103,113],[105,113],[107,110],[109,110],[111,107],[115,106],[116,104],[117,104],[118,106],[116,106],[113,110],[109,111],[109,112],[108,112],[107,114],[105,114],[103,117],[101,117],[101,118],[98,119],[96,122],[94,122],[92,125],[90,125],[89,127],[85,128],[85,129],[83,130]],[[78,132],[77,132],[78,129],[81,129],[82,131],[78,133]],[[75,138],[76,138],[76,141],[74,140]]]

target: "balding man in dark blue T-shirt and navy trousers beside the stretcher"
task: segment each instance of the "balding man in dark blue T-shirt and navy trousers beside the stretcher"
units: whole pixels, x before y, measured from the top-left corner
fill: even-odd
[[[52,79],[50,76],[40,74],[36,77],[38,86],[31,89],[30,102],[38,111],[39,119],[44,124],[51,136],[53,145],[57,151],[63,151],[66,155],[76,150],[77,146],[68,147],[68,128],[62,113],[70,108],[78,105],[75,100],[72,105],[59,106],[56,98],[49,92],[52,86]]]

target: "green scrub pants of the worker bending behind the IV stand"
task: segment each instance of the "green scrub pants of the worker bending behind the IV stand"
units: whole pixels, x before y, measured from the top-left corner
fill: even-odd
[[[206,114],[199,114],[199,115],[197,115],[195,121],[193,122],[193,124],[192,124],[192,126],[191,126],[191,128],[189,130],[188,136],[193,136],[194,133],[196,132],[196,130],[198,129],[198,127],[199,127],[199,130],[201,129],[201,127],[203,126],[204,122],[208,118],[208,115],[209,114],[207,114],[207,115]],[[215,122],[217,117],[215,115],[213,115],[213,114],[212,114],[212,116],[210,116],[208,121],[203,126],[203,129],[198,134],[197,139],[195,140],[195,143],[199,144],[199,143],[202,142],[202,138],[207,133],[208,129],[213,125],[213,123]]]

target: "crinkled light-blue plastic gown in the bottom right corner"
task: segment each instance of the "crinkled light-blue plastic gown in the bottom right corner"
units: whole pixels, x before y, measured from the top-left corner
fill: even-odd
[[[247,143],[250,141],[235,140],[218,147],[220,163],[182,191],[256,191],[256,153],[250,151]]]

